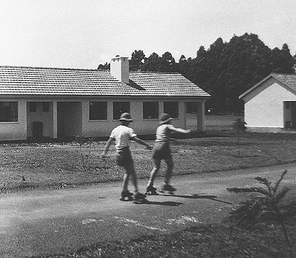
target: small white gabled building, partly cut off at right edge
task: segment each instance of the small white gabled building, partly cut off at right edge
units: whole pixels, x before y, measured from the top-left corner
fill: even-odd
[[[296,129],[296,74],[271,73],[240,95],[250,131]]]

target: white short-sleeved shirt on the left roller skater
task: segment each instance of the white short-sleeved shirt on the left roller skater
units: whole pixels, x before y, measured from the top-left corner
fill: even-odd
[[[119,125],[112,130],[110,138],[115,139],[116,149],[122,149],[124,147],[128,147],[130,138],[135,136],[137,136],[137,134],[134,133],[132,128],[126,127],[125,125]]]

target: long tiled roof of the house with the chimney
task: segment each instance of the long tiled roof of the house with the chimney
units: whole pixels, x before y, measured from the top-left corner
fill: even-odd
[[[110,71],[0,66],[0,95],[130,95],[209,97],[179,73],[130,72],[130,84]]]

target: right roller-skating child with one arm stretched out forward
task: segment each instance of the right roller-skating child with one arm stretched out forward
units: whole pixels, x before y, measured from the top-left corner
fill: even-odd
[[[170,148],[170,135],[172,131],[178,133],[190,133],[190,130],[184,130],[181,128],[175,128],[171,125],[171,118],[167,113],[163,113],[160,116],[159,127],[156,130],[156,140],[155,145],[153,147],[153,163],[154,167],[150,174],[150,179],[148,181],[146,193],[148,194],[157,194],[156,188],[153,187],[153,182],[155,180],[155,176],[160,168],[160,163],[162,160],[166,162],[166,172],[164,177],[164,184],[161,187],[161,192],[168,191],[173,193],[175,188],[172,187],[169,183],[171,180],[172,172],[173,172],[173,158],[171,155]]]

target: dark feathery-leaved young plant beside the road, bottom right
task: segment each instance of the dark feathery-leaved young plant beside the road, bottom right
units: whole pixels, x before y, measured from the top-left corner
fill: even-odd
[[[282,172],[279,179],[272,184],[266,178],[257,176],[255,179],[259,181],[263,187],[247,187],[247,188],[227,188],[227,191],[234,193],[258,193],[256,196],[250,196],[250,199],[239,204],[238,209],[229,214],[229,220],[241,228],[252,229],[258,223],[279,223],[284,232],[284,237],[293,257],[291,243],[288,239],[285,221],[295,219],[296,202],[290,201],[286,203],[284,197],[288,193],[288,187],[280,188],[279,184],[283,180],[287,171]]]

